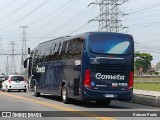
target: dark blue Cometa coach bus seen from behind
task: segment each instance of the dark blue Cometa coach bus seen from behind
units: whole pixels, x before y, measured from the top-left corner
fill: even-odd
[[[133,96],[134,41],[128,34],[86,32],[40,43],[24,61],[30,89],[110,104]]]

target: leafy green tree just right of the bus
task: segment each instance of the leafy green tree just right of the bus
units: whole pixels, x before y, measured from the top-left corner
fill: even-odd
[[[144,73],[151,68],[151,61],[153,56],[150,53],[135,53],[135,67],[139,71],[140,68],[143,69]]]

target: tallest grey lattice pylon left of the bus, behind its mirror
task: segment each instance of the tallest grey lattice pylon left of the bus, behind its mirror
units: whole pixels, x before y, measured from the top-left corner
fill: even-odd
[[[27,26],[21,26],[21,28],[23,30],[23,33],[22,33],[23,38],[22,38],[22,57],[21,57],[21,69],[20,70],[21,70],[21,73],[23,73],[24,72],[23,62],[27,58],[27,45],[26,45],[26,41],[27,41],[26,35],[27,35],[27,33],[26,33],[26,28],[28,28],[28,27]]]

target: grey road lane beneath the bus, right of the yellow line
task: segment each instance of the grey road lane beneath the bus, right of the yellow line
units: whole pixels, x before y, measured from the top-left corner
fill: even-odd
[[[41,97],[35,97],[32,92],[9,92],[9,94],[18,95],[22,97],[32,98],[35,100],[40,100],[48,103],[53,103],[56,105],[62,105],[64,107],[70,107],[73,109],[78,109],[81,111],[112,111],[112,110],[160,110],[158,107],[151,107],[146,105],[134,104],[122,101],[112,101],[110,105],[98,105],[95,102],[72,100],[70,104],[63,104],[61,97],[52,95],[41,95]],[[29,106],[34,105],[32,102],[28,102]],[[107,109],[106,109],[107,108]]]

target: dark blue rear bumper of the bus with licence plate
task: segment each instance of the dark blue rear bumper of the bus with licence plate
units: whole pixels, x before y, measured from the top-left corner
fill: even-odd
[[[98,100],[98,99],[116,99],[116,100],[131,100],[133,90],[128,91],[98,91],[84,88],[84,100]]]

